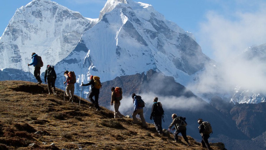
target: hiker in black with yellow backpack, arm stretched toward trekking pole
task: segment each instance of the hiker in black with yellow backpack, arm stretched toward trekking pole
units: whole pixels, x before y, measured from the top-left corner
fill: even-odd
[[[95,76],[97,77],[97,76]],[[98,79],[100,80],[100,78],[98,77]],[[88,96],[88,99],[90,99],[90,101],[93,103],[94,107],[96,108],[96,111],[100,111],[100,106],[99,106],[99,103],[98,103],[98,99],[99,99],[99,94],[100,94],[100,88],[96,88],[96,84],[100,84],[97,83],[97,80],[96,78],[94,78],[93,75],[90,76],[90,82],[87,83],[87,84],[83,84],[81,86],[91,86],[91,90],[90,90],[90,93],[89,93],[89,96]],[[96,84],[95,84],[96,83]],[[101,85],[100,85],[101,86]],[[93,96],[94,96],[94,100],[93,100]]]

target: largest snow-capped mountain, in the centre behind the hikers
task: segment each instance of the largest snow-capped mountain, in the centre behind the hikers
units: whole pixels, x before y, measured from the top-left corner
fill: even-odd
[[[99,22],[56,67],[75,70],[78,80],[97,75],[101,81],[153,69],[186,85],[209,61],[190,34],[151,5],[108,0]]]

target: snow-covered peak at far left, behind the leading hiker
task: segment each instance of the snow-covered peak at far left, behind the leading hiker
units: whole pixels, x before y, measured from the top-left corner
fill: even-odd
[[[44,66],[54,65],[69,55],[82,33],[97,21],[50,0],[33,0],[17,9],[0,38],[0,68],[27,72],[32,52],[42,57]]]

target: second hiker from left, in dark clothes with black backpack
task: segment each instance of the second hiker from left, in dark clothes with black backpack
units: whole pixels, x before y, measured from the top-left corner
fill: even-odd
[[[46,77],[47,77],[47,85],[48,85],[48,94],[50,95],[53,92],[53,95],[57,96],[56,88],[55,88],[56,72],[54,70],[54,67],[50,66],[49,64],[47,65],[45,73],[44,73],[45,83],[46,83]]]

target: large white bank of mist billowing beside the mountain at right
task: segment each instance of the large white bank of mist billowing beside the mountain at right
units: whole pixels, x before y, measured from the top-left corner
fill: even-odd
[[[192,91],[228,93],[238,86],[266,93],[265,48],[252,57],[254,46],[266,43],[266,2],[234,1],[223,6],[224,13],[209,11],[201,22],[198,36],[203,51],[212,54],[216,64],[207,64]]]

